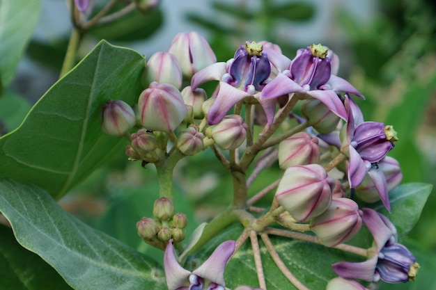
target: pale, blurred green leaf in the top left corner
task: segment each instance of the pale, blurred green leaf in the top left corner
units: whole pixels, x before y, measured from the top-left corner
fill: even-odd
[[[8,86],[39,17],[40,0],[0,1],[0,83]]]

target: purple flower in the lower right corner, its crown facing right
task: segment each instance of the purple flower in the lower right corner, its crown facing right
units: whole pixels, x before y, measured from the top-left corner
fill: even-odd
[[[397,243],[395,226],[382,214],[373,209],[362,209],[362,220],[373,234],[375,246],[368,252],[373,257],[361,263],[342,261],[333,264],[333,270],[346,279],[369,282],[383,280],[399,283],[414,280],[419,268],[416,258],[404,245]]]

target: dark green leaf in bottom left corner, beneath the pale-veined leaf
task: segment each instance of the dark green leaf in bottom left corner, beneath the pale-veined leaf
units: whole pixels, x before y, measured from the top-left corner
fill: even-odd
[[[0,225],[0,289],[71,290],[54,268],[24,249],[10,228]]]

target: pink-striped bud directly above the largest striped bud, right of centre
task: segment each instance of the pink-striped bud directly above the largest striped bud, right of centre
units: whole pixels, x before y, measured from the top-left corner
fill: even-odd
[[[320,155],[318,138],[306,132],[294,134],[279,144],[279,166],[282,169],[318,163]]]

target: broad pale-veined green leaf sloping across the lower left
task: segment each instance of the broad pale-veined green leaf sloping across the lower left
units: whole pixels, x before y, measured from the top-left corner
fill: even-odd
[[[17,241],[76,290],[166,289],[155,262],[81,223],[37,186],[1,179],[0,211]]]

